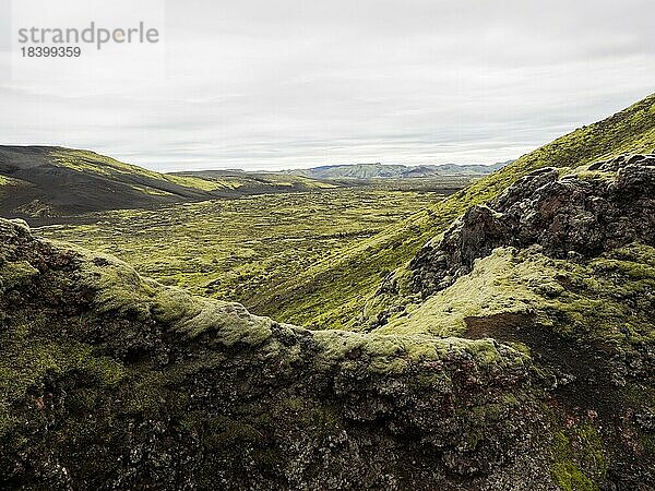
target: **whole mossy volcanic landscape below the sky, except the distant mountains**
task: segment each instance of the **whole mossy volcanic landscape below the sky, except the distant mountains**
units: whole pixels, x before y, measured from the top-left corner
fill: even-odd
[[[12,149],[0,487],[653,489],[654,151],[655,96],[465,188]]]

